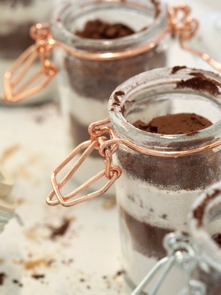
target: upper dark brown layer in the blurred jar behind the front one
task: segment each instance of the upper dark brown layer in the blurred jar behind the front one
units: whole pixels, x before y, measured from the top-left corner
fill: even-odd
[[[108,101],[118,85],[136,74],[166,64],[164,52],[157,47],[131,58],[119,60],[84,60],[68,55],[65,69],[72,89],[84,98]],[[99,118],[95,118],[96,120]]]

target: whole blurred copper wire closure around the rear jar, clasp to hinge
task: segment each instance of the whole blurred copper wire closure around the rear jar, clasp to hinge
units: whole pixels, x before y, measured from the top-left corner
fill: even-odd
[[[183,13],[183,17],[180,20],[178,18],[179,12]],[[173,36],[179,38],[180,44],[184,50],[200,56],[213,67],[221,70],[221,64],[213,60],[208,54],[189,48],[186,45],[186,41],[190,40],[195,35],[198,28],[198,21],[197,19],[192,19],[192,17],[189,16],[190,12],[190,7],[184,3],[175,7],[168,6],[168,27],[162,31],[155,40],[131,50],[124,50],[115,53],[88,53],[78,51],[77,49],[69,47],[62,42],[54,40],[50,33],[50,24],[36,24],[30,29],[30,35],[36,43],[25,50],[24,53],[22,53],[22,55],[15,60],[11,68],[9,68],[4,75],[5,92],[2,94],[2,99],[16,103],[40,91],[47,85],[47,83],[50,82],[58,71],[56,65],[49,60],[54,46],[61,47],[67,53],[70,53],[78,58],[89,60],[114,60],[144,53],[155,47],[166,34],[172,33]],[[15,90],[15,88],[18,87],[18,83],[20,83],[26,74],[28,68],[37,60],[37,58],[40,59],[41,63],[40,71],[30,78],[29,81],[25,82],[24,85],[20,86],[19,89]],[[16,76],[15,72],[17,72],[20,67],[21,70]],[[14,79],[12,79],[12,76],[15,76]],[[42,77],[40,83],[33,86],[33,84],[35,84],[40,77]]]

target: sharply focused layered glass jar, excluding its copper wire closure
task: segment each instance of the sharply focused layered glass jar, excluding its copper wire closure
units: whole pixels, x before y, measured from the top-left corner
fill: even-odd
[[[182,112],[196,113],[212,123],[218,122],[220,98],[215,98],[214,102],[213,95],[177,89],[179,81],[191,79],[188,71],[184,69],[175,74],[171,74],[172,69],[149,71],[118,87],[108,107],[117,135],[142,147],[166,151],[190,150],[214,140],[216,135],[209,131],[210,127],[203,136],[200,132],[174,136],[155,135],[132,126],[137,120],[149,122],[153,117]],[[118,96],[120,105],[115,107],[117,91],[124,94]],[[188,231],[187,214],[192,202],[203,189],[220,180],[221,155],[217,149],[181,157],[162,157],[120,145],[114,159],[122,169],[122,175],[116,181],[116,198],[123,266],[127,281],[134,287],[157,261],[166,256],[163,237],[177,230]],[[182,271],[174,267],[160,290],[172,295],[185,285]]]

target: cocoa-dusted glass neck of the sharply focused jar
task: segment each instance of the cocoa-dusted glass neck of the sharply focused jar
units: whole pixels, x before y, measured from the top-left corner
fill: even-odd
[[[142,147],[157,150],[190,150],[221,135],[221,77],[186,67],[160,68],[141,73],[113,91],[108,112],[117,135]],[[139,130],[136,120],[173,113],[196,113],[209,119],[210,127],[192,133],[162,135]]]

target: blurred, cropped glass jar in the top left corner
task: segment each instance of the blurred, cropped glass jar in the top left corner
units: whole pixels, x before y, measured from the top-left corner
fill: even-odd
[[[24,50],[34,43],[29,36],[29,29],[38,22],[49,21],[52,1],[43,0],[0,0],[0,76],[4,73]],[[35,63],[29,72],[32,76],[38,70]],[[30,77],[29,76],[29,77]],[[51,99],[55,82],[47,86],[39,94],[34,94],[22,104],[36,103]],[[0,80],[0,93],[4,90],[3,79]],[[6,104],[6,102],[0,101]],[[20,103],[21,104],[21,103]]]

